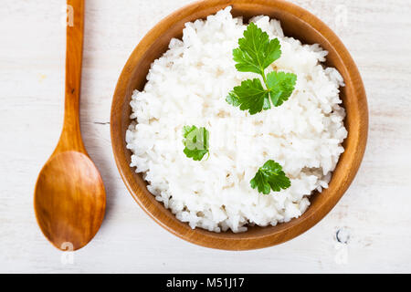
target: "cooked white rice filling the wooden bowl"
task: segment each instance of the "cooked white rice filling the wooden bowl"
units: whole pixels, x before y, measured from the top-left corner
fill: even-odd
[[[283,105],[256,115],[227,104],[231,89],[258,76],[235,68],[232,50],[247,25],[230,10],[185,24],[183,40],[172,39],[153,62],[144,89],[132,95],[132,119],[138,123],[132,122],[126,141],[131,166],[179,220],[237,233],[248,224],[276,225],[304,213],[310,194],[328,187],[347,130],[342,76],[321,66],[327,51],[284,36],[279,21],[268,16],[251,19],[270,38],[279,38],[282,55],[267,71],[296,74],[295,90]],[[208,159],[185,156],[184,125],[209,131]],[[249,181],[270,159],[282,165],[291,186],[264,195]]]

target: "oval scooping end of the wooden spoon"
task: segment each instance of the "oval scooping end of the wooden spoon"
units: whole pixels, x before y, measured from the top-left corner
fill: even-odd
[[[105,192],[100,173],[90,158],[64,151],[46,162],[35,191],[37,222],[59,249],[87,245],[104,217]]]

